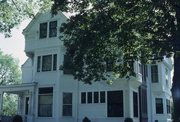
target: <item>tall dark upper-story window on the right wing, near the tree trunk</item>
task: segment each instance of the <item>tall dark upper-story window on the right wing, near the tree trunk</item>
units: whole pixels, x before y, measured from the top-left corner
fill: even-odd
[[[153,83],[157,83],[158,80],[158,66],[152,65],[151,66],[151,80]]]

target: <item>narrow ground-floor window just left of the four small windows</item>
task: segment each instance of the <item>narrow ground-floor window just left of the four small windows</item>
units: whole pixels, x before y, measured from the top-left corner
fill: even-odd
[[[72,93],[63,93],[63,116],[72,116]]]

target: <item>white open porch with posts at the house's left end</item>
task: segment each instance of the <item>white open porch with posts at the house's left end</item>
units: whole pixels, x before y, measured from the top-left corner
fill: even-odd
[[[0,119],[2,120],[2,122],[12,122],[13,118],[13,116],[3,115],[4,93],[17,95],[17,115],[20,115],[22,117],[23,122],[33,122],[35,87],[36,83],[0,86]]]

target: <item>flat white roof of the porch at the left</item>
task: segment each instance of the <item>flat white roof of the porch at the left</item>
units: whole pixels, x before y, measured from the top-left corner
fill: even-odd
[[[0,86],[0,93],[19,93],[23,91],[32,91],[37,83],[22,83],[22,84],[14,84],[14,85],[4,85]]]

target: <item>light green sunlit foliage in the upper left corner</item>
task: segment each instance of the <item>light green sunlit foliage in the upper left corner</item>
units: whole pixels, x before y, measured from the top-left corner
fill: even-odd
[[[0,0],[0,33],[10,36],[11,30],[24,19],[51,7],[51,0]]]

